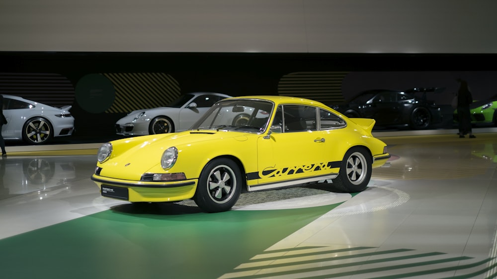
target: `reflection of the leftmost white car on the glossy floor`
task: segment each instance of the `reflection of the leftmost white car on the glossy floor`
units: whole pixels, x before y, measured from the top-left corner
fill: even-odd
[[[0,160],[0,200],[73,181],[76,178],[73,161],[68,157]]]

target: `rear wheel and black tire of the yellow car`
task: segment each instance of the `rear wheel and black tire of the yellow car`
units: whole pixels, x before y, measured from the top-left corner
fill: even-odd
[[[343,157],[338,176],[332,180],[333,190],[356,193],[366,189],[371,180],[373,159],[364,148],[351,148]]]

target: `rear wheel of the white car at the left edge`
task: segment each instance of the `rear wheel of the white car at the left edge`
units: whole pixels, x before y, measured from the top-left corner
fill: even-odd
[[[28,144],[40,145],[54,137],[52,124],[43,117],[33,117],[22,126],[22,139]]]

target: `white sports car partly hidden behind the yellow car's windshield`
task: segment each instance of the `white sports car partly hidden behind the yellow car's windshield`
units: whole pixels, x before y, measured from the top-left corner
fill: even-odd
[[[217,101],[230,97],[212,92],[188,93],[167,107],[128,113],[116,122],[116,134],[142,136],[181,132],[190,128]]]

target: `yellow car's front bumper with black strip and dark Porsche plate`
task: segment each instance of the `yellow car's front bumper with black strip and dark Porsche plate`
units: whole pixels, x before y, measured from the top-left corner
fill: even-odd
[[[197,179],[171,182],[131,181],[93,174],[91,180],[100,188],[102,196],[129,202],[176,202],[193,197]],[[102,191],[102,188],[104,189]],[[112,189],[118,192],[114,195]],[[123,194],[124,193],[124,194]]]

